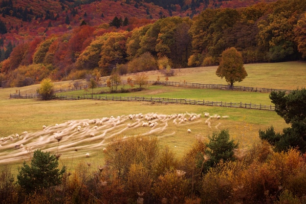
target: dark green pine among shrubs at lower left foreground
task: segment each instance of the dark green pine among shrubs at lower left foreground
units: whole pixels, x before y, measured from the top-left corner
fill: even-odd
[[[35,150],[31,165],[23,162],[23,166],[17,175],[18,183],[28,193],[59,185],[62,182],[63,174],[66,172],[66,167],[64,166],[60,170],[58,165],[58,158],[55,155],[50,154],[50,152]]]

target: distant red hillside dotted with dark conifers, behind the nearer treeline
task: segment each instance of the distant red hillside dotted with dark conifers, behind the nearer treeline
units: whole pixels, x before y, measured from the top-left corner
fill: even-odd
[[[132,29],[161,17],[193,17],[205,8],[237,8],[261,1],[276,0],[2,0],[0,46],[64,33],[83,21],[98,26],[114,17],[128,18]]]

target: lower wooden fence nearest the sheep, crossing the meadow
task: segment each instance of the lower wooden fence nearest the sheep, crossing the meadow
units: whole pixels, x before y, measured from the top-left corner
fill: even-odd
[[[82,96],[62,96],[54,95],[54,99],[59,100],[80,100],[80,99],[95,99],[95,100],[111,100],[111,101],[146,101],[156,103],[179,103],[189,105],[205,105],[205,106],[220,106],[232,108],[247,108],[274,111],[275,106],[252,104],[252,103],[232,103],[232,102],[218,102],[218,101],[205,101],[205,100],[192,100],[182,98],[154,98],[154,97],[124,97],[124,96],[107,96],[107,95],[82,95]]]

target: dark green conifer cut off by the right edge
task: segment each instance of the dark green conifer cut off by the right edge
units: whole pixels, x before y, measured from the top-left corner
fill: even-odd
[[[270,99],[275,104],[275,112],[284,118],[291,127],[283,129],[283,133],[275,133],[271,126],[265,131],[260,130],[261,139],[274,145],[277,152],[298,147],[306,152],[306,89],[294,90],[289,94],[285,91],[272,91]]]

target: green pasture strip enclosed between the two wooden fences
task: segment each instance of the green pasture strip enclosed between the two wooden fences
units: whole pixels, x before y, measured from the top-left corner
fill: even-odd
[[[122,86],[118,87],[118,91]],[[129,89],[127,85],[125,89]],[[108,96],[124,96],[124,97],[155,97],[155,98],[181,98],[192,99],[200,101],[218,101],[218,102],[232,102],[232,103],[252,103],[262,105],[273,105],[269,99],[269,93],[250,92],[250,91],[228,91],[217,89],[190,89],[185,87],[172,86],[148,86],[143,91],[136,91],[130,93],[102,93],[109,91],[108,87],[93,89],[94,95],[108,95]],[[84,90],[69,91],[57,93],[57,95],[91,95],[92,90],[87,92]]]

